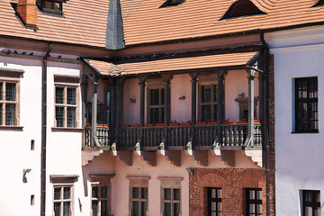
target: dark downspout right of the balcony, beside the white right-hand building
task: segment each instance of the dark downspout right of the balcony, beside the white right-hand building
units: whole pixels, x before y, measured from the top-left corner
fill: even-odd
[[[266,68],[265,68],[265,78],[266,78],[266,118],[265,118],[265,131],[266,131],[266,136],[265,136],[265,145],[266,145],[266,216],[270,216],[270,161],[269,161],[269,47],[266,44],[265,40],[265,34],[264,32],[261,32],[260,34],[260,40],[262,44],[265,46],[265,63],[266,63]]]

